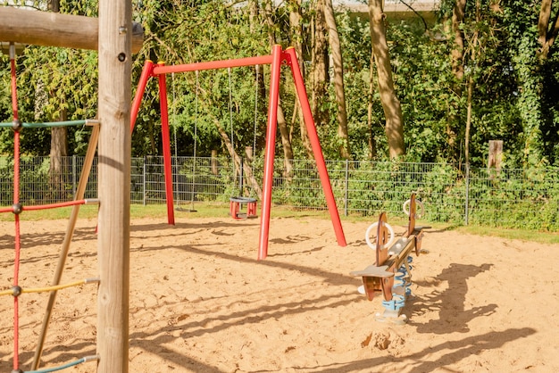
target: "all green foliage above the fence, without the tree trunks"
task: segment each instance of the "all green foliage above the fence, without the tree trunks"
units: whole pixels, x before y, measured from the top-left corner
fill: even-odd
[[[40,8],[43,2],[34,2]],[[436,21],[424,23],[416,15],[397,19],[388,16],[388,46],[393,66],[396,94],[405,118],[408,162],[463,162],[465,141],[465,83],[474,83],[471,106],[470,161],[483,167],[488,140],[505,142],[505,165],[545,165],[559,163],[559,60],[556,48],[545,61],[537,58],[538,2],[506,0],[498,4],[482,0],[480,18],[475,3],[467,3],[462,29],[465,37],[463,66],[466,77],[456,81],[450,53],[454,37],[447,34],[445,20],[455,2],[441,2]],[[263,4],[259,4],[263,6]],[[146,59],[166,64],[224,60],[270,53],[271,31],[282,46],[290,45],[289,6],[273,8],[275,24],[268,29],[249,6],[215,0],[183,2],[172,0],[133,1],[134,21],[145,29],[145,44],[133,62],[132,85],[136,86]],[[559,5],[553,3],[553,12]],[[96,16],[97,1],[63,0],[61,12]],[[313,4],[304,3],[304,58],[309,60]],[[380,95],[371,79],[371,39],[369,22],[346,12],[337,14],[338,33],[345,66],[346,107],[350,147],[355,160],[387,159],[384,112]],[[474,38],[474,35],[476,36]],[[8,66],[6,55],[1,62]],[[284,71],[287,72],[287,71]],[[281,100],[288,122],[293,117],[296,96],[288,73],[282,75]],[[262,155],[266,136],[269,67],[265,66],[256,87],[254,68],[177,73],[167,76],[171,143],[173,153],[209,156],[213,149],[227,153],[217,131],[219,123],[231,137],[236,151],[253,145]],[[11,120],[9,70],[0,70],[1,120]],[[68,119],[96,115],[96,53],[62,48],[29,46],[18,57],[20,117],[25,121],[56,119],[61,112]],[[255,89],[258,88],[256,99]],[[231,104],[229,105],[229,89]],[[318,128],[323,152],[338,158],[337,105],[329,85],[324,100],[328,125]],[[256,102],[257,101],[257,102]],[[140,108],[132,137],[133,155],[160,155],[163,149],[159,93],[151,79]],[[256,112],[254,112],[254,108]],[[368,114],[371,108],[371,125]],[[255,120],[254,120],[255,118]],[[254,129],[255,122],[255,129]],[[297,125],[298,123],[295,123]],[[69,128],[70,153],[84,152],[87,136],[82,128]],[[32,132],[32,133],[31,133]],[[196,132],[196,136],[195,136]],[[305,157],[297,128],[291,128],[297,158]],[[175,141],[176,133],[176,141]],[[0,130],[0,152],[12,152],[12,133]],[[48,130],[25,131],[21,137],[24,153],[46,154]],[[371,146],[373,147],[371,153]],[[277,143],[280,153],[281,145]],[[375,153],[376,152],[376,153]]]

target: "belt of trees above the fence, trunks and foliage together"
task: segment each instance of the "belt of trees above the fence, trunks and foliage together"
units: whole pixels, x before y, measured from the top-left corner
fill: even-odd
[[[62,12],[96,12],[96,0],[60,3]],[[356,159],[365,159],[375,149],[394,157],[399,149],[412,162],[456,162],[467,153],[472,166],[483,166],[488,140],[501,139],[505,165],[559,162],[559,54],[555,43],[559,2],[443,0],[441,19],[427,20],[427,26],[410,12],[411,18],[386,27],[381,1],[371,0],[371,11],[375,11],[371,13],[376,14],[371,22],[338,12],[333,20],[338,32],[331,32],[330,0],[288,0],[276,5],[251,0],[246,7],[214,0],[134,4],[135,20],[142,23],[146,38],[145,47],[134,56],[133,82],[138,81],[146,59],[167,64],[201,62],[269,54],[271,44],[276,43],[284,48],[294,46],[297,56],[305,57],[299,61],[300,67],[306,70],[313,114],[318,114],[317,128],[328,157],[337,158],[340,142],[346,141],[337,133],[341,120],[335,118],[342,112],[341,95],[335,93],[343,84],[344,94],[351,97],[346,101],[347,122],[351,123],[347,141]],[[329,26],[323,31],[329,32],[321,38],[325,24]],[[428,32],[424,32],[426,27]],[[343,58],[339,64],[337,42],[331,39],[335,34]],[[69,120],[93,118],[95,57],[95,53],[62,48],[26,48],[18,58],[21,120],[59,120],[64,113]],[[303,64],[303,60],[311,63]],[[262,152],[265,140],[266,71],[268,66],[260,66],[256,154]],[[330,77],[332,71],[335,75]],[[338,71],[343,72],[343,80],[338,80]],[[209,156],[213,149],[230,155],[232,148],[230,157],[236,159],[238,149],[253,144],[254,72],[254,68],[232,69],[232,126],[227,72],[200,72],[196,138],[200,156]],[[3,87],[9,87],[6,71],[0,71],[0,77]],[[194,73],[179,74],[174,80],[178,95],[170,107],[176,109],[172,124],[178,129],[179,155],[192,153],[194,77]],[[283,74],[282,79],[289,78]],[[150,83],[146,90],[132,139],[134,155],[156,155],[163,146],[156,88]],[[9,97],[2,97],[0,105],[9,120]],[[290,84],[281,85],[280,109],[281,144],[279,139],[277,149],[287,160],[305,156],[305,126],[302,120],[297,123],[301,113]],[[234,128],[234,146],[221,135],[215,119],[227,134],[229,127]],[[85,143],[79,136],[81,129],[68,131],[68,153],[79,153]],[[6,152],[9,135],[0,133],[5,139],[0,147]],[[23,131],[22,149],[29,154],[48,154],[50,139],[50,130]]]

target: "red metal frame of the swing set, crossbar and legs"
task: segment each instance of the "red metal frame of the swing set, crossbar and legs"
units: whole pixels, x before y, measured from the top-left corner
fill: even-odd
[[[338,208],[336,200],[332,193],[330,186],[330,178],[328,170],[326,170],[326,163],[322,155],[320,141],[316,132],[316,127],[309,104],[305,83],[299,64],[297,62],[296,53],[294,48],[282,50],[281,46],[273,46],[270,55],[246,57],[233,60],[212,61],[212,62],[196,62],[181,65],[165,66],[163,62],[155,64],[151,61],[146,61],[144,70],[138,82],[138,89],[132,102],[132,109],[130,113],[130,130],[134,129],[134,124],[138,117],[139,107],[142,101],[142,96],[146,90],[148,79],[151,77],[157,78],[159,82],[159,96],[160,96],[160,109],[161,109],[161,122],[162,122],[162,137],[163,137],[163,169],[165,174],[165,195],[167,200],[167,220],[169,224],[175,223],[173,211],[173,193],[172,193],[172,172],[171,172],[171,141],[169,134],[169,112],[167,104],[167,87],[166,87],[166,74],[173,72],[187,72],[187,71],[200,71],[200,70],[213,70],[213,69],[231,69],[241,66],[254,66],[254,65],[271,65],[270,77],[270,100],[268,105],[268,123],[266,131],[266,149],[264,153],[264,176],[263,176],[263,200],[262,200],[262,214],[260,223],[260,236],[258,247],[258,259],[263,260],[268,254],[268,236],[270,231],[270,213],[271,213],[271,187],[273,178],[273,161],[274,150],[276,143],[276,129],[278,119],[278,104],[280,99],[280,69],[281,64],[286,64],[291,69],[291,74],[296,85],[296,94],[301,104],[303,116],[305,119],[305,127],[313,148],[314,159],[321,178],[321,186],[326,196],[326,203],[330,212],[330,220],[334,226],[334,231],[338,240],[338,245],[346,246],[346,237],[344,235],[341,221],[339,219]],[[236,165],[240,168],[240,165]],[[235,206],[234,206],[235,207]]]

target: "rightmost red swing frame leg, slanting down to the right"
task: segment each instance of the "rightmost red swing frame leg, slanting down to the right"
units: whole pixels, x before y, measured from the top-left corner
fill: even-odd
[[[301,104],[303,117],[305,119],[306,131],[309,135],[309,140],[311,141],[311,145],[313,147],[314,160],[319,171],[319,176],[321,177],[322,190],[324,191],[324,195],[326,196],[326,203],[328,204],[330,219],[332,220],[334,231],[336,232],[338,245],[346,246],[346,236],[344,235],[344,229],[342,228],[342,224],[339,219],[338,207],[336,207],[336,199],[334,198],[332,186],[330,185],[330,178],[328,176],[328,170],[326,169],[326,162],[324,162],[324,156],[322,155],[321,142],[319,141],[318,135],[316,133],[316,125],[314,124],[313,120],[313,112],[311,111],[311,105],[309,104],[309,99],[306,95],[305,82],[303,81],[301,70],[299,69],[299,63],[297,62],[295,49],[286,49],[284,55],[286,56],[285,58],[288,62],[288,65],[291,67],[291,73],[293,74],[293,80],[295,81],[297,96],[299,98],[299,103]]]

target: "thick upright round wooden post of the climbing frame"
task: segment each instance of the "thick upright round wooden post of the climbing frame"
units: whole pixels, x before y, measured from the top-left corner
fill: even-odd
[[[129,369],[131,0],[99,0],[97,372]]]

